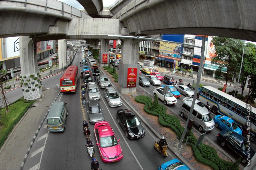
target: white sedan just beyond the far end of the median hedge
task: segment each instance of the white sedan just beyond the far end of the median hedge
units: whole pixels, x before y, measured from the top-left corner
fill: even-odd
[[[170,91],[168,91],[168,93],[164,95],[163,90],[164,88],[162,87],[155,88],[153,91],[154,96],[157,95],[157,97],[163,101],[164,105],[176,104],[177,103],[176,97],[174,97]]]

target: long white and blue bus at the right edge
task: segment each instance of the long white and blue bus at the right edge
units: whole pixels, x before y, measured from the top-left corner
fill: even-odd
[[[200,102],[204,104],[208,102],[215,115],[219,113],[224,116],[232,117],[232,119],[241,126],[245,125],[246,120],[249,119],[251,132],[255,136],[256,109],[251,105],[211,86],[202,87]],[[251,115],[251,117],[249,115]]]

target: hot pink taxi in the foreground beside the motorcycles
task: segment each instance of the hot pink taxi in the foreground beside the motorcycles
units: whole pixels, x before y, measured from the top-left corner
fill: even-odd
[[[106,121],[97,122],[94,125],[96,145],[100,150],[100,156],[103,162],[116,162],[123,158],[123,152],[119,145],[112,127]]]

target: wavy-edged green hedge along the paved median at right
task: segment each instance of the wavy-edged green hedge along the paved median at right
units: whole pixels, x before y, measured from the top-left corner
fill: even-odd
[[[154,100],[158,101],[157,95],[155,96]],[[162,126],[171,128],[173,131],[175,131],[177,136],[181,138],[184,127],[181,126],[178,117],[166,114],[167,108],[165,106],[162,106],[158,103],[157,105],[153,105],[152,98],[149,96],[136,96],[135,101],[145,104],[143,109],[148,114],[158,116],[159,123]],[[186,137],[188,137],[188,145],[191,145],[192,148],[195,150],[197,138],[194,136],[192,131],[187,133]],[[234,168],[235,166],[235,168],[238,169],[238,165],[233,165],[232,162],[221,159],[212,146],[205,145],[204,143],[201,143],[198,146],[198,149],[195,150],[194,155],[199,162],[211,166],[214,169],[230,169],[231,166],[232,168]]]

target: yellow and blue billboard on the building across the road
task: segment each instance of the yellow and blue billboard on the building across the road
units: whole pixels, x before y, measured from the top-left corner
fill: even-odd
[[[159,57],[180,61],[181,45],[176,43],[162,42],[159,43]]]

